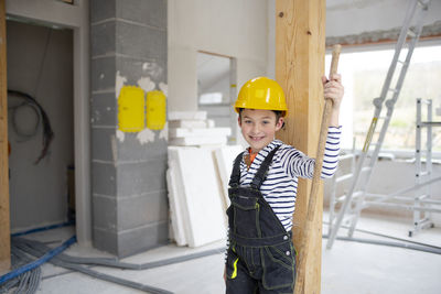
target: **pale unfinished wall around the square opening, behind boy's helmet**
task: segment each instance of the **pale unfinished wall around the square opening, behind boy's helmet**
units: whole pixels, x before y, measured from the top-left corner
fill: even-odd
[[[237,58],[238,88],[266,75],[267,1],[169,0],[171,111],[197,110],[197,51]]]

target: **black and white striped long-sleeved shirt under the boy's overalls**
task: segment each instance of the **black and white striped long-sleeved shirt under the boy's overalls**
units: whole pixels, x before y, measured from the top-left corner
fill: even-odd
[[[340,153],[341,127],[330,127],[323,157],[322,178],[331,177],[337,167]],[[249,170],[243,160],[240,163],[240,186],[249,186],[260,164],[271,150],[280,145],[276,152],[260,192],[271,206],[287,231],[292,228],[292,214],[295,209],[298,178],[312,178],[315,160],[306,156],[280,140],[273,140],[259,151]],[[244,156],[248,150],[244,152]]]

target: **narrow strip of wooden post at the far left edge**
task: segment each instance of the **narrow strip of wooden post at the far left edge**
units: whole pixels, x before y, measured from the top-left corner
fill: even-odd
[[[11,266],[8,170],[8,85],[6,0],[0,0],[0,273]]]

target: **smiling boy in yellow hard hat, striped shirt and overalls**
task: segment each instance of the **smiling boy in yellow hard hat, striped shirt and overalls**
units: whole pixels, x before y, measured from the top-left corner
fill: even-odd
[[[343,86],[340,75],[322,77],[324,97],[333,100],[322,177],[337,166]],[[235,104],[238,123],[249,148],[235,160],[229,181],[226,293],[292,293],[295,251],[292,214],[298,177],[312,178],[314,160],[275,140],[288,108],[281,87],[272,79],[248,80]]]

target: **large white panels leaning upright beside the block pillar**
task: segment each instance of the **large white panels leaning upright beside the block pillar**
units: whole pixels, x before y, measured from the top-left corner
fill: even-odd
[[[226,238],[213,149],[169,146],[168,187],[173,239],[179,246],[200,247]]]

